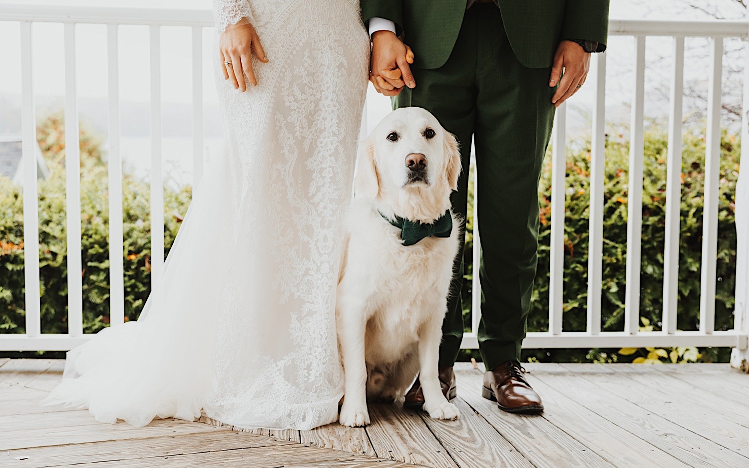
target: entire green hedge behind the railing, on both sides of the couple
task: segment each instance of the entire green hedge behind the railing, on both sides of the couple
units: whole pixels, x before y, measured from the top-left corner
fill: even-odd
[[[43,332],[66,332],[67,263],[65,241],[64,136],[60,115],[40,124],[38,140],[52,174],[40,180],[40,278]],[[83,312],[86,332],[94,332],[109,321],[109,232],[106,192],[106,163],[100,140],[83,127],[81,133],[81,208]],[[679,329],[699,328],[700,256],[702,249],[703,165],[705,143],[700,136],[685,135],[681,237],[679,258]],[[640,312],[643,327],[658,329],[661,320],[663,252],[665,230],[667,141],[664,133],[646,133],[643,192],[642,276]],[[564,315],[565,330],[584,330],[586,320],[588,263],[589,148],[568,151],[565,192]],[[533,309],[528,329],[545,331],[548,326],[549,240],[551,237],[551,158],[542,174],[539,274],[533,293]],[[608,136],[605,165],[603,330],[623,329],[628,142],[622,135]],[[716,329],[733,327],[736,231],[733,194],[739,174],[739,145],[734,136],[721,142],[720,214],[718,226],[718,291]],[[135,319],[150,292],[150,187],[143,180],[124,177],[125,314]],[[166,187],[165,246],[179,228],[181,213],[187,211],[190,186],[180,190]],[[469,213],[471,210],[469,210]],[[24,331],[24,276],[22,246],[22,193],[19,186],[0,177],[0,332]],[[473,220],[467,219],[467,245],[464,255],[467,271],[464,282],[464,314],[470,323],[470,279]],[[207,239],[210,248],[213,240]],[[195,252],[194,255],[201,255]],[[679,349],[694,358],[696,351]],[[704,350],[703,350],[704,351]],[[658,354],[670,359],[671,350],[528,350],[529,359],[611,361]],[[654,354],[655,353],[655,354]],[[465,352],[464,357],[477,356]],[[715,352],[703,359],[716,359]],[[724,359],[724,358],[721,358]]]

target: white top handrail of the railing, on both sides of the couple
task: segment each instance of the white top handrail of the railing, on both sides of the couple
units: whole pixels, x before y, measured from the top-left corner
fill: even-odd
[[[55,5],[1,4],[4,21],[82,22],[97,24],[213,26],[210,10],[62,7]],[[609,34],[627,36],[749,37],[745,19],[671,20],[611,19]]]

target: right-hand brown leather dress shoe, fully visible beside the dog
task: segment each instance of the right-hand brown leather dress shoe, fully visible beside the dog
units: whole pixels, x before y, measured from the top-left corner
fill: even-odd
[[[497,401],[500,410],[508,413],[542,413],[541,397],[525,380],[524,372],[518,361],[507,361],[491,369],[484,374],[483,397]]]

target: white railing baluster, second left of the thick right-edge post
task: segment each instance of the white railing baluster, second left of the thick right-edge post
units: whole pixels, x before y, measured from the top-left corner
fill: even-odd
[[[663,280],[663,330],[676,332],[679,291],[679,223],[682,210],[682,96],[684,93],[684,37],[673,38],[668,156],[666,169],[666,248]]]

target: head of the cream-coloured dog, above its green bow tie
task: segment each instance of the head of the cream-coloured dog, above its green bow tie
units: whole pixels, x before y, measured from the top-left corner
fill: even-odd
[[[458,142],[425,109],[404,107],[387,115],[360,146],[357,197],[401,198],[404,192],[449,198],[458,189]],[[416,190],[414,190],[416,189]]]

